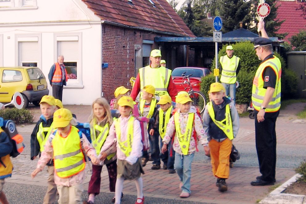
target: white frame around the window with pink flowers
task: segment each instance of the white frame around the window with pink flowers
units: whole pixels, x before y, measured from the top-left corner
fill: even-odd
[[[83,72],[82,72],[82,33],[55,33],[54,34],[54,60],[57,62],[59,53],[60,41],[78,41],[79,47],[79,59],[77,60],[77,79],[69,79],[67,85],[64,88],[84,88],[83,86]],[[64,56],[65,62],[65,56]]]

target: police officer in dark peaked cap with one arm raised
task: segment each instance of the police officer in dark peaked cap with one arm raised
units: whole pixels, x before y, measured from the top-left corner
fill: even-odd
[[[256,177],[251,185],[266,186],[275,182],[275,123],[280,108],[281,63],[272,53],[272,41],[264,29],[264,22],[260,21],[258,27],[263,37],[254,39],[254,49],[262,63],[253,80],[252,104],[255,108],[256,150],[262,175]]]

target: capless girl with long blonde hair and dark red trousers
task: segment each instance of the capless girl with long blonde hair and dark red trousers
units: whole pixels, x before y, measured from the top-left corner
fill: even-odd
[[[108,136],[109,127],[112,124],[110,106],[105,98],[97,98],[92,103],[92,113],[89,116],[90,135],[92,146],[96,153],[100,154],[101,147]],[[116,145],[109,149],[112,153],[104,160],[108,170],[109,190],[115,192],[117,178]],[[94,203],[95,196],[100,193],[102,165],[92,165],[92,176],[88,185],[88,204]],[[112,199],[115,202],[115,197]]]

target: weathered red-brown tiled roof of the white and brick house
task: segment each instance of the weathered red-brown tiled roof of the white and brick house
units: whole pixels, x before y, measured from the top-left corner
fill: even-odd
[[[166,0],[82,0],[102,20],[195,37]]]

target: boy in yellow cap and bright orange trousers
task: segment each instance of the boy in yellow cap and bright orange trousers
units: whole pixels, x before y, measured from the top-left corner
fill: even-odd
[[[203,126],[207,133],[213,174],[217,177],[218,190],[227,190],[225,179],[230,175],[232,140],[239,130],[239,115],[234,102],[225,96],[221,83],[210,84],[211,101],[203,113]]]

